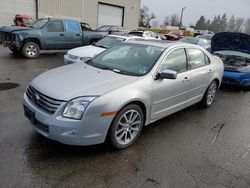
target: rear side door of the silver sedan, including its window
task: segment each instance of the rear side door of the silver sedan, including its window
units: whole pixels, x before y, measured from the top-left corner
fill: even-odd
[[[199,102],[211,81],[212,68],[207,55],[200,49],[186,49],[188,64],[191,73],[190,77],[190,104]]]

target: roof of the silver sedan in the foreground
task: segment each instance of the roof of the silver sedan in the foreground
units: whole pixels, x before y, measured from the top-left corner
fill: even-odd
[[[182,43],[182,42],[176,42],[176,41],[164,41],[164,40],[145,40],[145,39],[136,39],[132,40],[126,43],[133,43],[133,44],[141,44],[141,45],[149,45],[149,46],[155,46],[160,48],[169,48],[172,46],[180,46],[180,47],[195,47],[199,48],[197,45],[188,44],[188,43]],[[199,48],[200,49],[200,48]]]

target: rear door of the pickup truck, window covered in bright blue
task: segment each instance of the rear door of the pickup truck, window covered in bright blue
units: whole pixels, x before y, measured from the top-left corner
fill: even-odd
[[[65,20],[64,25],[68,49],[82,46],[82,30],[79,22],[74,20]]]

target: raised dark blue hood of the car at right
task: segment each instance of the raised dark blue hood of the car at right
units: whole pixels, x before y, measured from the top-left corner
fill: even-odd
[[[216,33],[211,40],[211,52],[224,50],[250,54],[250,35],[235,32]]]

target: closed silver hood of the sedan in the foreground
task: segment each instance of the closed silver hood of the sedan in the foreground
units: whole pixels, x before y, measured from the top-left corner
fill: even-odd
[[[35,78],[31,85],[48,97],[69,101],[79,96],[100,96],[137,79],[76,63],[47,71]]]

